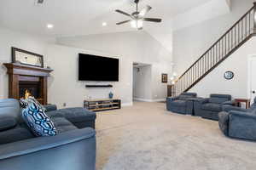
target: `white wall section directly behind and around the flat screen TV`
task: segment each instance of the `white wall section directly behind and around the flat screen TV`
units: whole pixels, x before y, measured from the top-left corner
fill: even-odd
[[[79,53],[106,57],[117,56],[116,54],[50,45],[47,50],[48,63],[54,71],[49,77],[49,103],[55,103],[59,108],[63,107],[63,103],[67,103],[67,107],[80,107],[84,104],[84,99],[106,99],[109,92],[113,92],[113,98],[122,99],[123,105],[131,105],[132,76],[130,71],[132,71],[132,65],[126,65],[127,60],[119,58],[119,82],[81,82],[78,80]],[[93,83],[113,84],[113,88],[85,88],[85,84]]]

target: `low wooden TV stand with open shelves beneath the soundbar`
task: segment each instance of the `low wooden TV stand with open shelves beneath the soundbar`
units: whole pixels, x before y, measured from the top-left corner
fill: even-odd
[[[121,109],[120,99],[86,99],[84,108],[90,111],[109,111]]]

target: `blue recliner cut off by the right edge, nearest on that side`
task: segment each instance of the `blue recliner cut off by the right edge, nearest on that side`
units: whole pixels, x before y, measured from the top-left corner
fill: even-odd
[[[224,105],[218,117],[218,125],[226,136],[256,140],[256,98],[250,109]]]

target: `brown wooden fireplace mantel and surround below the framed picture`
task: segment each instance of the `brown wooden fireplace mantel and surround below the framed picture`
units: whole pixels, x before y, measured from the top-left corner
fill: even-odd
[[[22,84],[38,82],[38,101],[47,104],[47,77],[53,70],[35,66],[4,63],[9,74],[9,98],[20,99],[20,82]]]

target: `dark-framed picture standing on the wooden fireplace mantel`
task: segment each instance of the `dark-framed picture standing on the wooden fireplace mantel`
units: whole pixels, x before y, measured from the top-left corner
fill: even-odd
[[[44,68],[44,56],[12,47],[12,62]]]

